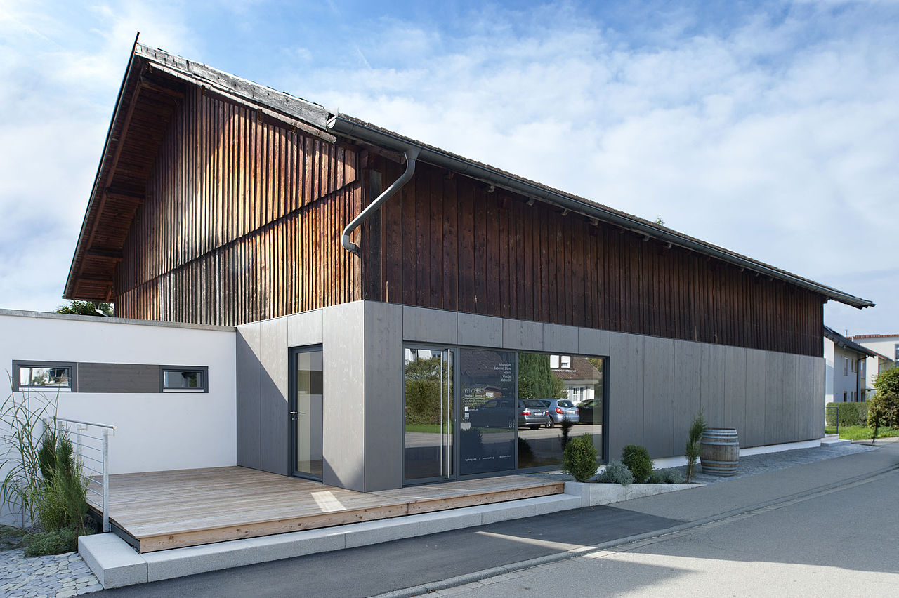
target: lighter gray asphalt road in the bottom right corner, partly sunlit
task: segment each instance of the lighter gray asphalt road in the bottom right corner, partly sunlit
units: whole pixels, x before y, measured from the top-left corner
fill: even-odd
[[[667,538],[428,595],[895,596],[897,496],[893,470]]]

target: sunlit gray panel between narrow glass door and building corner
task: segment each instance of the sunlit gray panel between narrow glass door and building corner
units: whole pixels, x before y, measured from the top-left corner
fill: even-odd
[[[325,310],[322,481],[359,491],[365,489],[364,326],[365,302],[343,303]],[[381,455],[373,456],[377,459]]]

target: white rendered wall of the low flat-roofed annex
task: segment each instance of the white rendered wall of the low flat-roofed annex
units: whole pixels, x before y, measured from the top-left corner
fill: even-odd
[[[208,393],[60,392],[58,416],[117,428],[111,473],[236,464],[234,329],[0,310],[0,371],[13,359],[206,365]]]

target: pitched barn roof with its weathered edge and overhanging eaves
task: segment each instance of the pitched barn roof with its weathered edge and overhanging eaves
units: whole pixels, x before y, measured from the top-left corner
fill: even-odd
[[[162,79],[158,78],[158,75],[161,75]],[[166,100],[172,101],[173,98],[182,94],[179,86],[182,87],[184,84],[200,85],[204,90],[208,89],[210,92],[218,93],[232,101],[251,105],[256,110],[260,110],[260,113],[273,119],[303,128],[318,136],[324,136],[330,141],[334,141],[336,136],[343,136],[400,152],[415,147],[421,150],[419,159],[425,163],[446,167],[474,179],[484,180],[496,187],[554,204],[594,221],[615,224],[643,234],[647,240],[655,238],[669,243],[670,246],[677,245],[702,255],[721,259],[739,268],[755,272],[757,275],[777,278],[790,285],[800,286],[818,293],[827,299],[854,307],[874,306],[874,303],[867,299],[861,299],[831,286],[799,277],[786,270],[679,233],[666,226],[654,224],[638,216],[629,215],[559,189],[553,189],[539,182],[512,174],[512,172],[469,160],[439,147],[423,144],[363,120],[331,112],[319,104],[297,98],[289,93],[279,92],[235,75],[228,75],[210,66],[191,62],[160,49],[149,48],[137,41],[135,41],[122,81],[119,99],[116,102],[101,163],[85,213],[85,221],[78,237],[72,266],[69,269],[64,293],[66,298],[109,298],[115,260],[120,259],[121,243],[124,242],[130,222],[142,201],[143,189],[140,188],[139,180],[141,176],[146,180],[148,169],[152,166],[152,159],[156,155],[155,152],[147,152],[146,147],[153,143],[158,145],[158,140],[165,132],[168,118],[171,116],[170,113],[165,113]],[[143,101],[145,95],[149,96],[148,101]],[[139,138],[134,139],[134,135],[129,135],[132,132],[129,130],[129,125],[135,112],[141,111],[136,110],[136,106],[141,101],[144,104],[141,110],[150,111],[150,116],[138,123],[140,125],[138,127]],[[159,108],[159,104],[162,105],[162,108]],[[145,148],[143,154],[147,156],[145,163],[140,163],[138,155],[136,158],[138,167],[126,169],[134,174],[130,179],[120,177],[117,169],[120,155],[123,154],[123,145],[130,145],[129,149],[132,151],[124,153],[128,156],[140,154],[142,147]],[[128,183],[131,187],[118,193],[116,184],[120,181],[122,184]],[[100,242],[97,242],[98,229],[102,230]],[[107,229],[111,231],[108,235],[106,235]]]

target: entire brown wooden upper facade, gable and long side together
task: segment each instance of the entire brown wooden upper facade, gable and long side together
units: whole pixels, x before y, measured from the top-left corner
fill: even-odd
[[[125,89],[110,203],[73,265],[72,295],[121,317],[238,325],[369,299],[822,354],[823,295],[427,163],[352,255],[343,226],[403,171],[394,154],[166,76]]]

